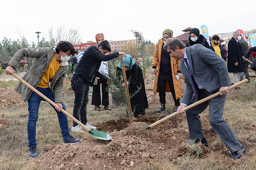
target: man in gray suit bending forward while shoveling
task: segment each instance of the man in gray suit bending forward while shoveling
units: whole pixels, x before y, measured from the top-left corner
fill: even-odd
[[[185,113],[182,109],[187,105],[218,91],[220,93],[219,96],[186,111],[191,139],[187,142],[201,142],[208,146],[199,114],[209,105],[209,121],[212,129],[229,147],[233,153],[232,159],[240,158],[242,154],[246,153],[245,149],[241,146],[227,122],[222,119],[226,94],[228,93],[227,88],[231,84],[224,59],[221,59],[218,54],[201,44],[186,47],[177,38],[170,38],[164,48],[167,49],[171,57],[176,60],[181,59],[179,68],[185,77],[186,90],[177,110],[179,115]]]

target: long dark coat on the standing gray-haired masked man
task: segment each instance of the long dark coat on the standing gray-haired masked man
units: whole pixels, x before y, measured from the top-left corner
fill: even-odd
[[[243,54],[241,44],[236,41],[234,37],[230,39],[228,42],[228,49],[227,49],[227,70],[228,72],[238,73],[244,72],[244,61],[243,61]],[[234,63],[238,62],[238,66],[235,66]]]

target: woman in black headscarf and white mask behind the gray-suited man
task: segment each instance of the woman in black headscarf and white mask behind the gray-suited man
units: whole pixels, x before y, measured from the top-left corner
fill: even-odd
[[[191,47],[194,44],[202,44],[206,48],[210,48],[209,41],[202,34],[200,34],[198,28],[192,28],[189,31],[189,40],[186,46]]]

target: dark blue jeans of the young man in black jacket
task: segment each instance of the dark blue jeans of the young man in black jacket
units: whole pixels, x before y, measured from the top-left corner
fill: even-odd
[[[73,108],[73,116],[86,125],[87,123],[87,103],[88,103],[88,94],[89,94],[89,83],[84,82],[77,74],[73,74],[71,79],[71,87],[75,94],[75,102]],[[73,121],[73,127],[78,125]]]

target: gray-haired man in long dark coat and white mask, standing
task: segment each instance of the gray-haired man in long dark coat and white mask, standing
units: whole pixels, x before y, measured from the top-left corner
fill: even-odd
[[[241,35],[239,31],[233,33],[233,37],[228,42],[228,56],[227,56],[227,69],[228,72],[233,73],[233,83],[236,84],[238,78],[244,72],[244,61],[241,44],[238,40],[241,40]],[[239,89],[236,87],[235,89]]]

